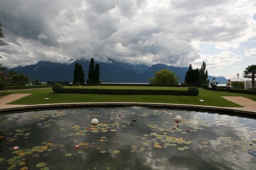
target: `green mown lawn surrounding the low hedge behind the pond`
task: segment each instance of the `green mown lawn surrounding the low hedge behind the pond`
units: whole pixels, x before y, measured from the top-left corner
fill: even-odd
[[[70,88],[70,87],[65,87]],[[187,90],[188,87],[149,87],[149,86],[90,86],[76,88],[114,88],[114,89],[178,89]],[[106,94],[59,94],[52,89],[19,90],[3,92],[3,95],[11,93],[32,93],[25,98],[11,102],[10,104],[50,104],[50,103],[80,103],[80,102],[147,102],[147,103],[173,103],[188,105],[205,105],[220,107],[240,107],[239,105],[227,101],[221,96],[243,96],[256,101],[256,95],[212,92],[200,89],[198,96],[183,95],[106,95]],[[45,100],[49,98],[49,100]],[[200,102],[199,100],[204,100]]]

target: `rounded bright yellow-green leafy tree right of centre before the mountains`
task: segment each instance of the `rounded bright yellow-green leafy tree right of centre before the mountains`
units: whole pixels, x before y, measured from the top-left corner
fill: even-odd
[[[155,72],[155,78],[150,78],[151,84],[178,84],[179,77],[168,69]]]

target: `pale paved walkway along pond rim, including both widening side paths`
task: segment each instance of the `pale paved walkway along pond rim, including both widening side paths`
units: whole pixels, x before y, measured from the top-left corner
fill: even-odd
[[[179,104],[153,104],[153,103],[67,103],[67,104],[46,104],[46,105],[8,105],[12,101],[24,98],[30,95],[30,93],[16,93],[0,97],[0,111],[13,110],[15,109],[32,109],[32,108],[44,108],[44,107],[68,107],[68,106],[94,106],[94,105],[132,105],[138,104],[141,106],[173,106],[181,108],[198,108],[198,109],[208,109],[208,110],[222,110],[222,111],[234,111],[239,113],[248,113],[256,115],[256,102],[241,96],[222,96],[222,98],[229,100],[233,103],[237,103],[244,107],[212,107],[212,106],[198,106],[198,105],[179,105]],[[9,109],[8,109],[9,108]]]

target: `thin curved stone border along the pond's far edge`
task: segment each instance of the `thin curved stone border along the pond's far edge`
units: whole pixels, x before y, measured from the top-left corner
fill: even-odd
[[[256,115],[256,112],[237,110],[232,108],[215,107],[215,106],[200,106],[200,105],[182,105],[182,104],[165,104],[165,103],[133,103],[133,102],[99,102],[99,103],[59,103],[59,104],[41,104],[41,105],[26,105],[15,106],[0,109],[1,112],[20,111],[20,110],[34,110],[34,109],[57,109],[67,107],[84,107],[84,106],[157,106],[157,107],[170,107],[179,109],[192,109],[192,110],[208,110],[208,111],[222,111],[232,113],[242,113],[247,115]]]

